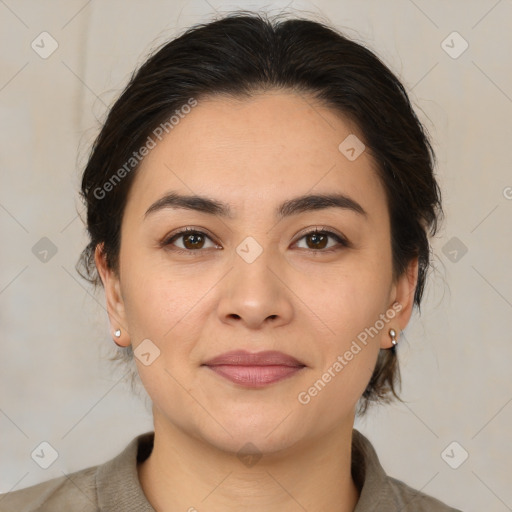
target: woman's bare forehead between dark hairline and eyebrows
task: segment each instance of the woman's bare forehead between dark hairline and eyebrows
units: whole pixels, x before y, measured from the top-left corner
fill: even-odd
[[[379,214],[385,196],[373,159],[368,151],[356,159],[342,151],[343,141],[358,135],[353,124],[303,94],[203,99],[144,158],[127,209],[143,214],[168,190],[218,197],[235,212],[341,192],[369,215]]]

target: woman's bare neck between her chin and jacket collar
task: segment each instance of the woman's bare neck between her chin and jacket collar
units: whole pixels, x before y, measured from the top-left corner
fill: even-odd
[[[138,466],[158,512],[281,510],[353,512],[352,423],[259,459],[237,457],[169,425],[154,411],[151,455]]]

